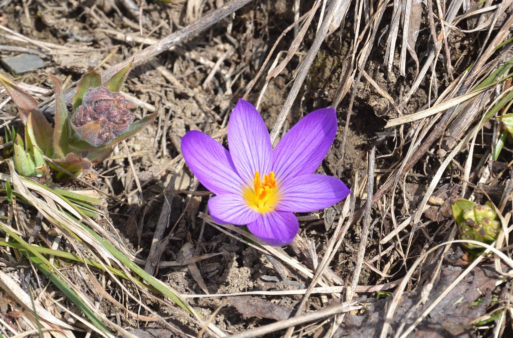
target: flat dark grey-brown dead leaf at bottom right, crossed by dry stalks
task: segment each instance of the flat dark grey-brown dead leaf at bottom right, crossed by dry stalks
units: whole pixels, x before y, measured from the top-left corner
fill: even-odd
[[[400,325],[406,324],[406,327],[411,325],[463,270],[464,267],[451,265],[442,267],[440,276],[436,279],[424,305],[416,306],[422,297],[422,287],[405,292],[393,316],[392,332],[396,333]],[[470,338],[475,333],[473,321],[486,313],[491,303],[491,291],[499,278],[493,264],[474,268],[429,312],[429,315],[417,326],[415,334],[411,336]],[[472,305],[478,299],[481,301],[477,305]],[[391,297],[370,304],[365,315],[346,315],[343,324],[333,336],[343,335],[347,338],[379,336],[390,301]]]

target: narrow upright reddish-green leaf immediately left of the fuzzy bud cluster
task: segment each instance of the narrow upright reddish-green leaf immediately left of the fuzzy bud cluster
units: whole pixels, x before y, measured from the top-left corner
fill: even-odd
[[[61,80],[50,75],[55,85],[55,128],[53,129],[53,148],[57,158],[65,158],[71,153],[69,137],[71,133],[69,113],[62,95]]]

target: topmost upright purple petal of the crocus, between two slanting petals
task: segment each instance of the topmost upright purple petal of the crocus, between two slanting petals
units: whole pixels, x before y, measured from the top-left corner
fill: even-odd
[[[271,171],[272,145],[269,132],[258,110],[239,100],[228,123],[228,147],[237,172],[247,183],[253,183],[255,172],[260,176]]]

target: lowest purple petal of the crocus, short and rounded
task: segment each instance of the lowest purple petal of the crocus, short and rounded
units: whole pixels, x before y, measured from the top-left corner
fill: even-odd
[[[288,245],[299,232],[298,218],[291,212],[272,211],[263,213],[248,230],[269,245],[282,247]]]

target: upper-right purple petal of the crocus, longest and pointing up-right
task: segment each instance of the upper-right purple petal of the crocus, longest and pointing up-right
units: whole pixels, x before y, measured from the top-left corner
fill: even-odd
[[[333,108],[312,111],[285,134],[272,152],[272,171],[278,182],[301,174],[313,174],[328,153],[337,134]]]

